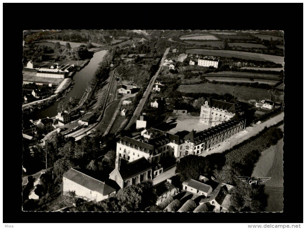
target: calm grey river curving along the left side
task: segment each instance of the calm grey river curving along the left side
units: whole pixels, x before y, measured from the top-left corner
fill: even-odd
[[[87,87],[87,83],[94,76],[96,69],[99,66],[99,63],[102,61],[103,56],[105,56],[107,50],[102,50],[94,53],[93,57],[90,59],[90,62],[82,68],[79,72],[76,72],[73,80],[74,84],[73,90],[71,90],[63,99],[60,101],[68,101],[70,97],[79,97],[82,98],[85,89]],[[25,119],[38,120],[46,117],[54,117],[57,115],[57,105],[60,101],[55,102],[52,106],[39,110],[35,109],[31,114],[26,115]]]

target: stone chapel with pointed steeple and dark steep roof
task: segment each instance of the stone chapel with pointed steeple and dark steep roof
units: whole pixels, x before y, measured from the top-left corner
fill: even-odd
[[[152,165],[141,157],[133,162],[121,165],[121,159],[116,157],[115,169],[109,178],[116,181],[120,188],[152,179]]]

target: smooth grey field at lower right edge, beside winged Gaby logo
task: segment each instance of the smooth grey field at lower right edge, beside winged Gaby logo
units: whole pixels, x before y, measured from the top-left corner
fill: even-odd
[[[283,129],[283,125],[281,125]],[[252,176],[271,177],[265,182],[265,193],[269,195],[266,211],[283,210],[283,140],[261,152]]]

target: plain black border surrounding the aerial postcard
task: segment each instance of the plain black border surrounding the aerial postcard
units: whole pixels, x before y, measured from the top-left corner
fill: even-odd
[[[28,29],[283,30],[285,34],[285,175],[283,212],[22,212],[22,32]],[[302,3],[4,3],[2,120],[3,223],[303,222],[302,108]]]

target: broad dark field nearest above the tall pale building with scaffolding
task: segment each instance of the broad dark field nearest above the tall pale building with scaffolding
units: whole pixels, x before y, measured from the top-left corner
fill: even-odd
[[[224,84],[211,84],[211,83],[202,83],[195,85],[180,85],[178,90],[182,93],[216,93],[216,94],[232,94],[234,91],[235,97],[238,97],[240,100],[248,101],[250,99],[269,99],[270,94],[268,90],[259,89],[259,88],[250,88],[244,86],[232,86]],[[283,94],[276,92],[276,99],[281,100]]]

